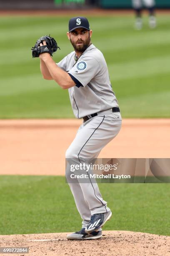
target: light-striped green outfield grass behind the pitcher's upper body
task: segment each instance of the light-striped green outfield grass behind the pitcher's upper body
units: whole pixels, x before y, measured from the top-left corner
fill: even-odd
[[[70,53],[69,18],[0,17],[0,118],[73,117],[67,90],[42,79],[40,61],[32,59],[30,50],[37,38],[50,33],[61,48],[53,59]],[[88,18],[122,116],[170,117],[170,16],[158,15],[155,30],[148,28],[145,16],[142,31],[133,28],[133,15]]]

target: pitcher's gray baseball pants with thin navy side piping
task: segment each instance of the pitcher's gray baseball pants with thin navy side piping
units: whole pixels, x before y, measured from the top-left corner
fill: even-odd
[[[75,164],[87,163],[87,159],[97,158],[102,148],[119,133],[122,123],[119,112],[112,113],[111,110],[105,110],[97,114],[80,125],[65,155],[67,159],[66,179],[83,220],[82,227],[87,226],[92,214],[108,212],[110,209],[107,207],[107,202],[102,199],[97,183],[90,180],[90,177],[88,183],[81,183],[82,179],[72,182],[70,165],[73,162]]]

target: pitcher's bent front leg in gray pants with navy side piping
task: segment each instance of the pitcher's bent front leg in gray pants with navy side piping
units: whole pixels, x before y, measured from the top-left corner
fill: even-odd
[[[92,159],[100,153],[101,149],[117,135],[120,127],[120,113],[97,116],[86,121],[68,148],[66,158],[74,159],[77,164],[83,164],[84,159],[86,163],[87,159]],[[87,174],[86,170],[82,170],[81,173]],[[102,199],[96,182],[93,183],[90,177],[87,179],[88,183],[81,183],[81,179],[78,181],[92,215],[110,211],[107,202]],[[72,184],[72,189],[74,189],[74,184]],[[76,196],[79,197],[79,195]]]

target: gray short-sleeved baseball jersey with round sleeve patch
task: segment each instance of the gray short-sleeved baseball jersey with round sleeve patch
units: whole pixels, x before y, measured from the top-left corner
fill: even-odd
[[[77,61],[75,51],[72,51],[57,65],[68,72],[76,83],[76,86],[68,89],[76,118],[118,107],[105,58],[93,44]]]

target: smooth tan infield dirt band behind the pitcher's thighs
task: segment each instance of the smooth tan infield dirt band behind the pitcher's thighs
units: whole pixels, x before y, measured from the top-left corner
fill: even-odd
[[[65,175],[65,151],[82,120],[0,120],[0,174]],[[170,119],[123,119],[99,158],[169,158]]]

